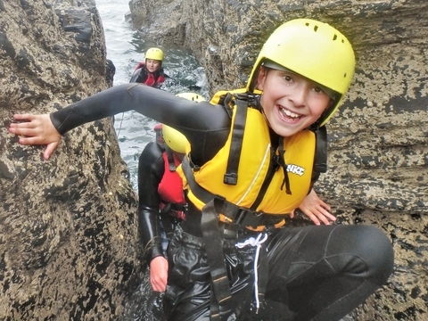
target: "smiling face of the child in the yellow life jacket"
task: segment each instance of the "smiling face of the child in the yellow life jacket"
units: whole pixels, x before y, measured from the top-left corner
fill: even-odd
[[[280,136],[308,128],[332,103],[316,83],[292,71],[260,67],[257,80],[266,119]]]

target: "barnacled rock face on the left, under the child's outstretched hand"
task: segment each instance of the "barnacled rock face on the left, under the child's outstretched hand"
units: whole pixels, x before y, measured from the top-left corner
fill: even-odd
[[[111,86],[95,0],[0,0],[0,319],[112,320],[136,284],[136,195],[112,120],[49,161],[7,133]]]

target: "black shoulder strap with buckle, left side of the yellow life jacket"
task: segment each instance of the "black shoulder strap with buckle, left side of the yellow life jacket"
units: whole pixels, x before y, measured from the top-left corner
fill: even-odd
[[[228,103],[225,101],[225,103]],[[226,174],[223,183],[236,185],[238,183],[238,167],[243,148],[243,132],[247,120],[248,103],[242,99],[236,99],[237,105],[234,128],[232,128],[232,141],[230,143],[229,158],[227,160]]]

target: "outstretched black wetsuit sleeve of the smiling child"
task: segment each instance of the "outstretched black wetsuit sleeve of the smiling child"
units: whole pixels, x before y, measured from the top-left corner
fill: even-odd
[[[192,146],[192,161],[202,165],[226,143],[231,119],[222,105],[193,102],[139,84],[113,86],[51,114],[60,134],[124,111],[137,111],[183,133]]]

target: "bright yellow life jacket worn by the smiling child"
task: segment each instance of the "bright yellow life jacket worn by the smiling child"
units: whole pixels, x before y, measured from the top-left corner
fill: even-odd
[[[243,93],[243,89],[235,93]],[[218,93],[211,103],[224,103],[225,94],[226,92]],[[219,197],[240,209],[257,213],[284,215],[298,208],[311,188],[316,151],[314,132],[305,129],[291,137],[278,137],[279,146],[274,150],[268,123],[259,108],[251,106],[251,99],[247,95],[235,94],[233,99],[229,97],[225,107],[230,111],[233,128],[226,144],[201,167],[193,166],[189,153],[184,161],[183,166],[190,164],[193,168],[192,180],[196,185],[188,184],[182,167],[177,169],[185,183],[189,201],[198,210],[202,210],[210,198],[202,199],[201,193],[195,191],[202,189],[212,197]],[[246,110],[244,116],[243,110]],[[241,120],[237,120],[238,111],[241,112]],[[235,135],[235,132],[240,131],[238,122],[241,122],[242,129],[239,139],[235,137],[239,136]],[[232,146],[234,144],[235,147]],[[236,146],[238,150],[234,150]],[[281,154],[284,156],[281,157]],[[232,163],[235,160],[236,172],[228,176],[231,160]],[[228,221],[227,213],[221,214],[224,215],[220,215],[220,219]]]

